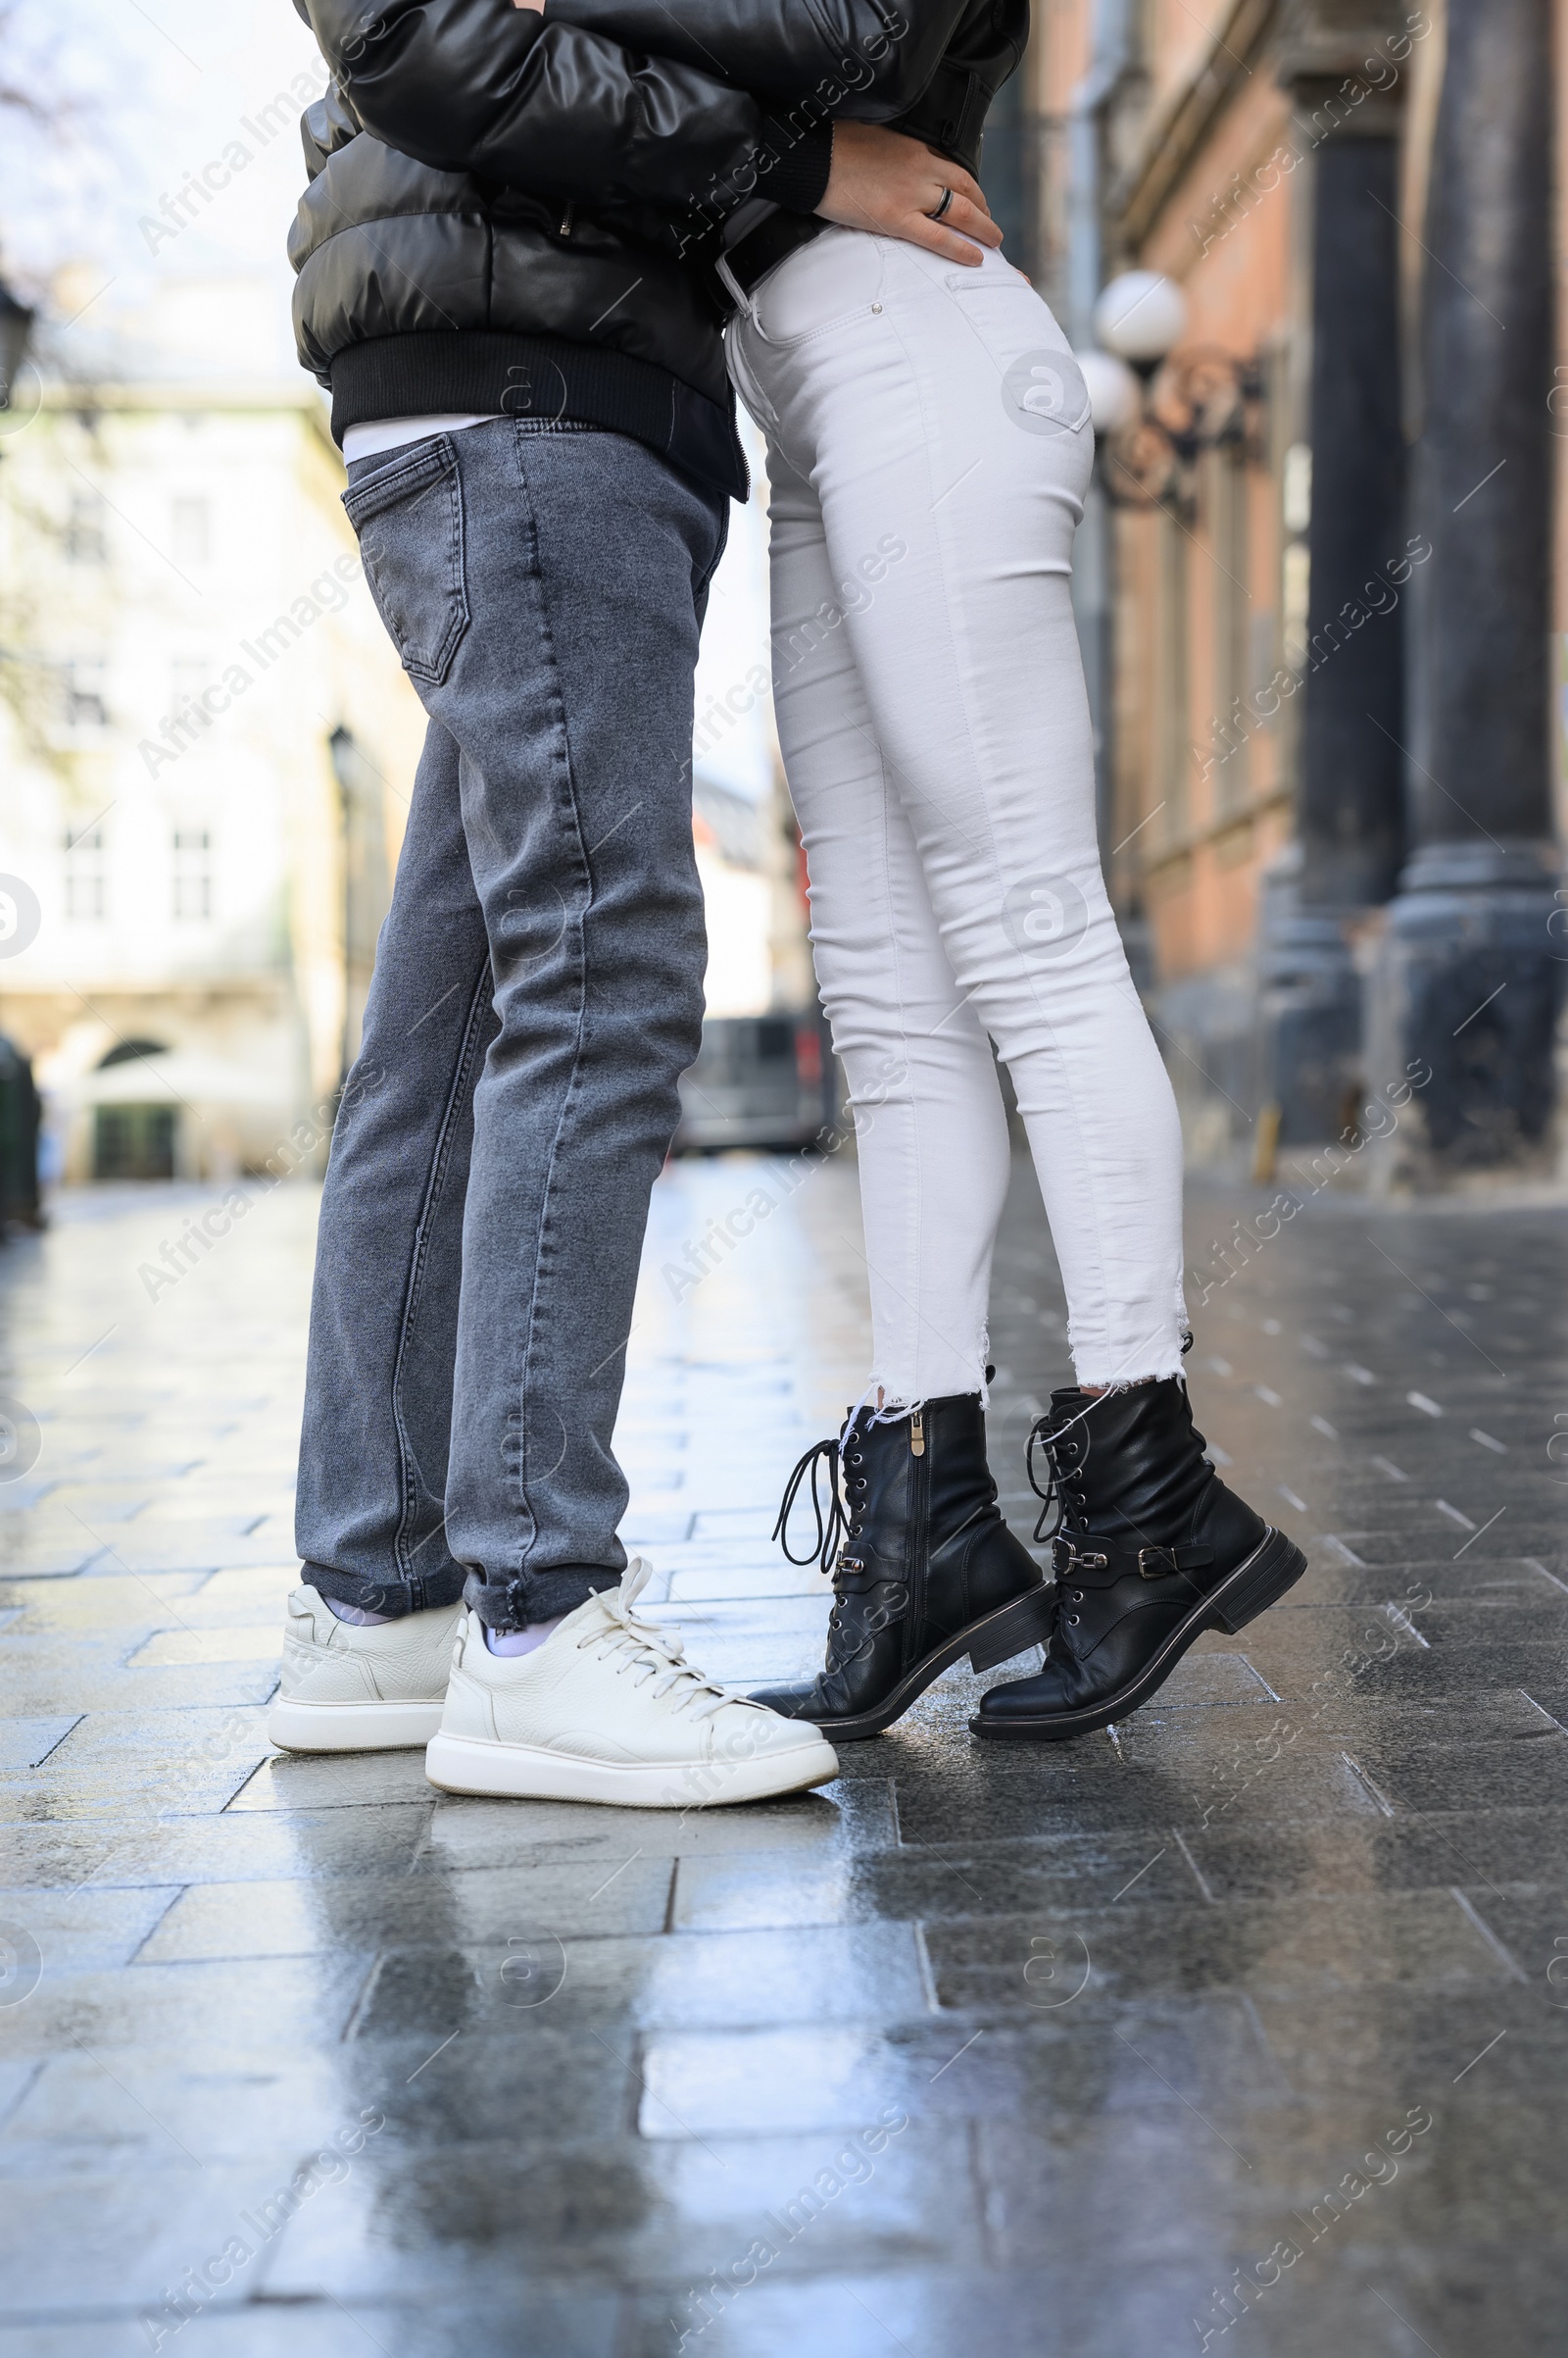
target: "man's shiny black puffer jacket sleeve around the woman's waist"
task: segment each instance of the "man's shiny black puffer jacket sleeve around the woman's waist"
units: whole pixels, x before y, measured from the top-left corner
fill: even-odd
[[[745,90],[512,0],[295,0],[373,139],[538,196],[710,217],[766,193],[813,212],[830,127],[773,123]]]

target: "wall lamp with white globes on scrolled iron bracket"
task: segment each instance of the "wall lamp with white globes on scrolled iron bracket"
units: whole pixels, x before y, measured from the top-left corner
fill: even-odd
[[[1177,354],[1186,295],[1160,271],[1122,271],[1094,304],[1096,351],[1078,356],[1094,432],[1108,443],[1103,486],[1120,507],[1191,507],[1205,450],[1247,441],[1261,401],[1254,361],[1214,344]]]

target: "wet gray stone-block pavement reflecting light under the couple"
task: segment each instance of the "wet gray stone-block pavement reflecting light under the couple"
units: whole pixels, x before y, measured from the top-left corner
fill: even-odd
[[[795,1179],[660,1181],[630,1353],[627,1537],[733,1681],[821,1648],[769,1526],[865,1358],[854,1172]],[[950,1674],[821,1794],[620,1816],[269,1752],[316,1198],[149,1304],[205,1200],[80,1196],[0,1252],[38,1420],[0,1483],[0,2358],[1563,2349],[1559,1210],[1320,1198],[1195,1306],[1198,1422],[1311,1573],[1125,1726],[981,1750]],[[1238,1210],[1195,1200],[1191,1259]],[[1021,1530],[1063,1337],[1019,1177]]]

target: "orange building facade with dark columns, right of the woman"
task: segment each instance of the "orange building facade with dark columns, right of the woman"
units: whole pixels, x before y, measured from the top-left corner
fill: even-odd
[[[1078,549],[1101,842],[1193,1160],[1544,1167],[1568,962],[1561,0],[1040,0],[988,132],[1092,351],[1186,325]],[[1358,1111],[1361,1108],[1361,1111]]]

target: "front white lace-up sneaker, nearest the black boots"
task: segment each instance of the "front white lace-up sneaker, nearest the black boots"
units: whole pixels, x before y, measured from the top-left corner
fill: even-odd
[[[712,1809],[804,1792],[839,1773],[802,1719],[726,1695],[681,1641],[637,1618],[651,1566],[568,1613],[533,1653],[490,1653],[465,1613],[424,1776],[446,1792],[622,1809]]]

